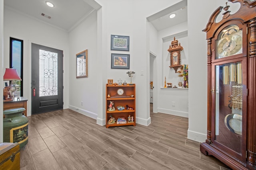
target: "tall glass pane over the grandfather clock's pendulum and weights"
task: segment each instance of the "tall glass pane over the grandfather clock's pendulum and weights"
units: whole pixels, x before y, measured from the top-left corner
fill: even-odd
[[[215,141],[242,151],[242,62],[215,66]]]

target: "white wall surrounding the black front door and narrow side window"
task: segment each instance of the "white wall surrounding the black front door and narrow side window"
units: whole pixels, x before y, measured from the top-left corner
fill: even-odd
[[[27,115],[31,115],[31,43],[63,50],[64,108],[68,107],[69,51],[68,33],[4,7],[4,68],[9,68],[10,37],[23,40],[23,96],[28,99]]]

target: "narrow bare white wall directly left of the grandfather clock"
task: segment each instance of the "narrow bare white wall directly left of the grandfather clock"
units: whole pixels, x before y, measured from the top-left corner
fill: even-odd
[[[190,54],[188,59],[190,80],[188,138],[200,142],[205,142],[207,134],[207,40],[206,33],[202,30],[206,27],[212,13],[219,6],[225,6],[225,2],[223,0],[188,1],[188,52]],[[198,10],[198,4],[204,8]],[[231,3],[228,2],[228,4]]]

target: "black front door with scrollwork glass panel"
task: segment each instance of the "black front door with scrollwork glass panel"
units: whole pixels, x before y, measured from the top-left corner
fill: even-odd
[[[32,43],[32,114],[63,109],[63,51]]]

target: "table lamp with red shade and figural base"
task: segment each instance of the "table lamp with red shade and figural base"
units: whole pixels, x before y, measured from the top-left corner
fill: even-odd
[[[21,78],[15,68],[6,68],[4,73],[4,80],[10,80],[10,86],[6,86],[4,88],[4,100],[12,100],[12,95],[10,94],[10,89],[12,88],[12,81],[21,80]]]

